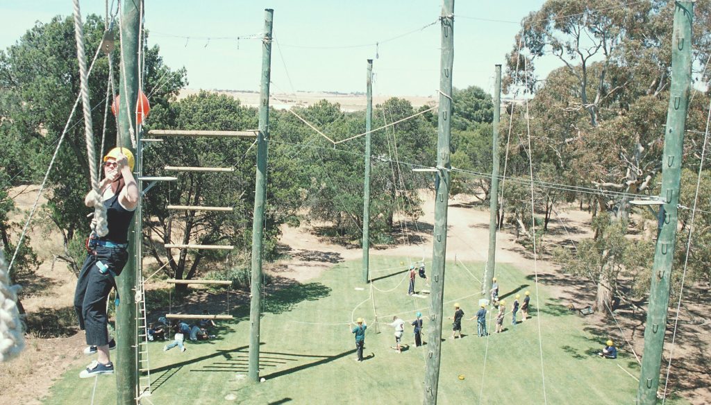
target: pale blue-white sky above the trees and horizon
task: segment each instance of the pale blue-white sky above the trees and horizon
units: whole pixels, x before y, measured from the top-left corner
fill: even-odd
[[[518,22],[543,2],[455,1],[454,87],[493,92],[494,65],[512,50]],[[84,16],[105,14],[105,1],[80,5]],[[262,47],[250,37],[262,36],[267,8],[274,9],[272,93],[365,92],[372,58],[375,95],[436,94],[441,0],[151,0],[148,43],[166,65],[187,69],[188,88],[258,91]],[[36,21],[72,13],[70,0],[0,1],[0,49]],[[539,75],[551,68],[537,65]]]

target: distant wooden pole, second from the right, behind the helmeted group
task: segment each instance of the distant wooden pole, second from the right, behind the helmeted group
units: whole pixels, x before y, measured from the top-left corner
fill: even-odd
[[[491,190],[489,192],[489,247],[488,258],[486,259],[486,269],[484,270],[483,278],[483,293],[486,295],[491,291],[493,284],[493,275],[496,271],[496,228],[498,221],[496,214],[498,212],[498,121],[501,119],[501,65],[496,65],[496,83],[493,90],[493,139],[491,144],[491,154],[493,161],[491,163]]]

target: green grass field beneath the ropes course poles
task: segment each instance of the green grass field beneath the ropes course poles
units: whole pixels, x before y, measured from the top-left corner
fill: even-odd
[[[187,343],[187,352],[177,348],[163,352],[163,342],[151,342],[150,401],[156,405],[420,403],[427,346],[416,348],[412,329],[407,328],[403,342],[410,347],[398,355],[390,349],[393,329],[384,324],[392,314],[411,322],[418,309],[425,317],[429,312],[427,298],[407,296],[402,267],[385,270],[397,268],[401,260],[407,261],[371,255],[373,286],[386,291],[373,290],[383,323],[378,325],[380,333],[373,323],[370,287],[361,281],[360,261],[336,264],[319,279],[266,297],[260,357],[260,375],[266,382],[249,384],[240,378],[247,372],[249,308],[237,308],[235,320],[220,325],[217,340]],[[617,360],[597,357],[607,337],[594,335],[545,286],[539,285],[540,312],[536,311],[533,275],[521,269],[498,265],[501,296],[510,304],[515,293],[523,297],[529,290],[533,318],[512,327],[507,315],[503,333],[492,334],[488,344],[486,338],[478,338],[476,321],[468,319],[477,309],[479,282],[465,266],[474,276],[483,273],[483,264],[447,264],[445,315],[451,315],[457,301],[467,320],[463,339],[442,343],[440,404],[634,404],[637,382],[624,371],[638,375],[634,356],[622,350]],[[427,287],[418,277],[417,290],[423,288]],[[346,325],[359,316],[368,323],[363,363],[354,361],[353,335]],[[493,319],[488,326],[491,332]],[[427,327],[425,319],[425,340]],[[450,335],[451,323],[445,320],[442,336]],[[89,404],[95,380],[79,379],[79,372],[73,369],[61,376],[44,402]],[[465,379],[458,379],[459,374]],[[99,377],[94,403],[115,403],[114,377]]]

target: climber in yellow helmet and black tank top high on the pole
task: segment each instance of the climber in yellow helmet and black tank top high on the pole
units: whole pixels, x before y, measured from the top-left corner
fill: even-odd
[[[97,360],[83,370],[79,377],[113,374],[114,367],[109,349],[116,347],[109,341],[106,302],[115,277],[121,274],[128,260],[128,231],[134,210],[138,205],[138,185],[133,177],[134,156],[127,148],[113,148],[104,157],[104,179],[100,194],[104,201],[109,232],[97,237],[94,232],[87,242],[84,261],[74,293],[74,309],[79,327],[85,330],[87,355],[97,354]],[[87,207],[94,206],[95,193],[90,191],[84,199]]]

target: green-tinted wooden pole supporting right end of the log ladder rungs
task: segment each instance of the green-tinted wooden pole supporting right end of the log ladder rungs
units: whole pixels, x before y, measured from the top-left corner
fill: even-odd
[[[269,78],[272,76],[272,21],[274,10],[264,10],[262,39],[262,84],[260,124],[257,134],[257,177],[255,214],[252,220],[252,299],[250,301],[250,366],[248,376],[260,379],[260,316],[262,315],[262,239],[264,238],[264,201],[267,199],[267,141],[269,141]]]

